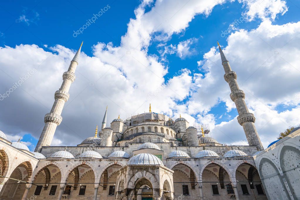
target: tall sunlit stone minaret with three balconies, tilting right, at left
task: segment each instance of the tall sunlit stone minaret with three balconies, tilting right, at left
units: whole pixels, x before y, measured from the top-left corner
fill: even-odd
[[[83,42],[82,42],[83,43]],[[35,152],[38,152],[43,146],[50,146],[56,127],[61,123],[62,117],[61,112],[64,108],[64,104],[70,97],[69,89],[71,83],[75,80],[75,70],[78,65],[78,59],[81,51],[82,43],[76,52],[74,58],[72,59],[68,71],[64,72],[62,75],[63,82],[58,91],[54,93],[54,103],[52,109],[49,113],[45,115],[44,122],[45,126],[41,133],[38,144],[35,148]]]

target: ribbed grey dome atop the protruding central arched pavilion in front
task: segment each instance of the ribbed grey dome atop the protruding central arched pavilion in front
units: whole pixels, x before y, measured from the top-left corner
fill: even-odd
[[[152,154],[137,154],[127,162],[128,165],[162,165],[164,163]]]

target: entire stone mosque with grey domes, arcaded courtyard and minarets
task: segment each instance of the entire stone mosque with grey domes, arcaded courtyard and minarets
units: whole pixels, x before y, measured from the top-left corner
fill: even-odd
[[[107,124],[77,146],[51,146],[82,44],[63,73],[34,152],[0,131],[0,199],[300,199],[300,129],[265,150],[220,45],[230,97],[249,145],[227,146],[179,116],[149,112]],[[242,134],[242,133],[241,133]],[[275,134],[275,133],[274,133]]]

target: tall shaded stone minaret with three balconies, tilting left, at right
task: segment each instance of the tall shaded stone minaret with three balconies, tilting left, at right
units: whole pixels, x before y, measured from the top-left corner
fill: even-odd
[[[231,94],[230,98],[235,103],[236,109],[238,110],[238,123],[243,127],[245,135],[250,146],[257,146],[258,150],[263,150],[262,142],[259,139],[258,133],[254,126],[255,117],[249,112],[245,103],[245,93],[240,90],[238,83],[236,82],[236,73],[231,70],[229,61],[225,57],[220,44],[218,43],[222,65],[225,70],[224,79],[229,84]]]

